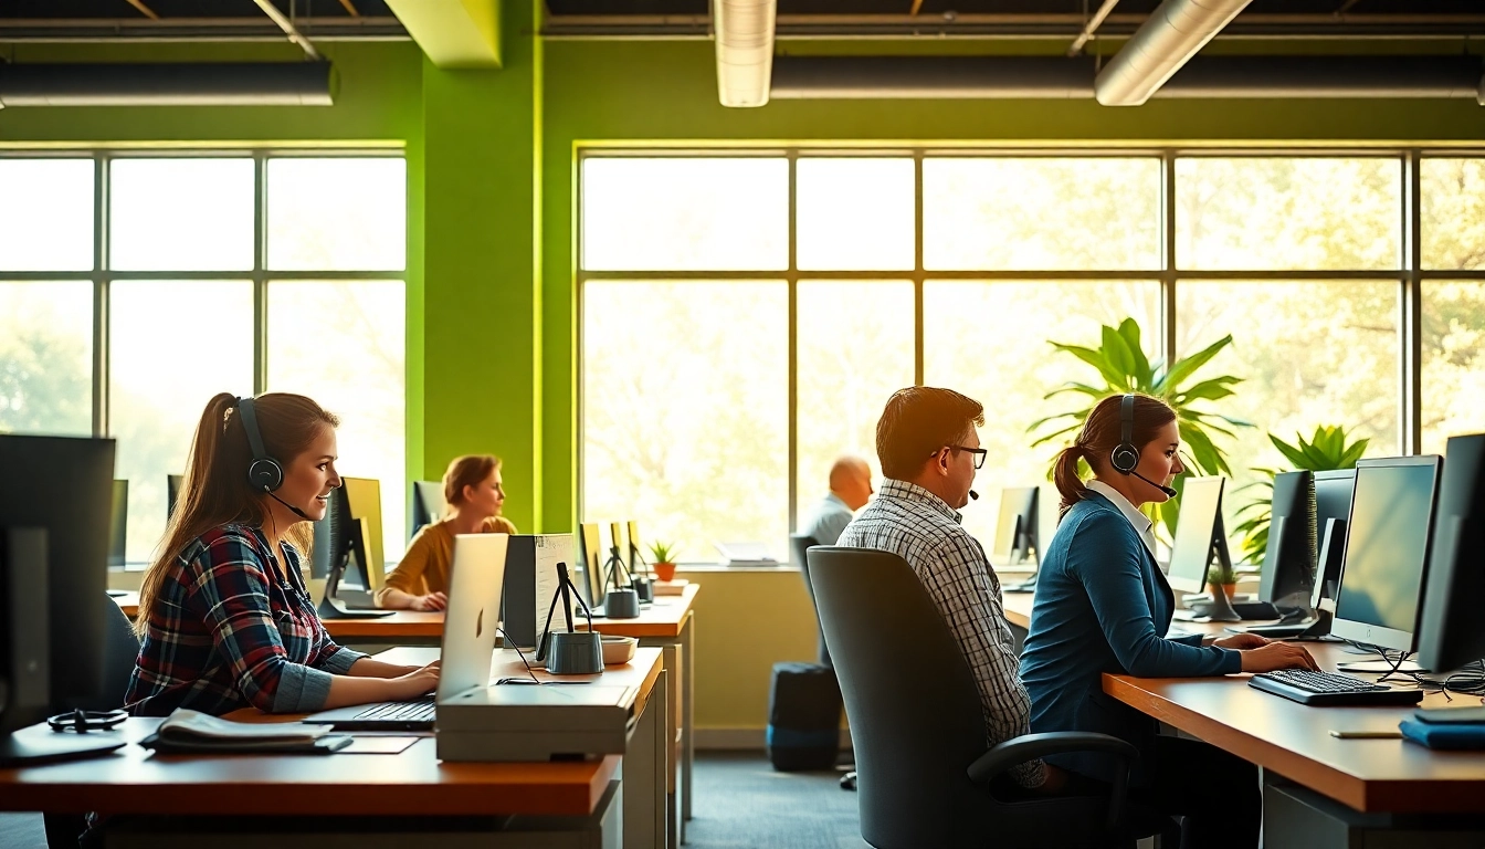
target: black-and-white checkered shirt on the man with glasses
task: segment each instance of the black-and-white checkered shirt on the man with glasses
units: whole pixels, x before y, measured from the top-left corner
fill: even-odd
[[[1005,623],[1001,581],[959,513],[922,486],[882,482],[876,500],[846,525],[838,546],[892,552],[913,568],[964,650],[985,711],[986,745],[1029,730],[1031,697],[1017,675],[1016,642]],[[1041,787],[1040,760],[1011,770],[1022,787]]]

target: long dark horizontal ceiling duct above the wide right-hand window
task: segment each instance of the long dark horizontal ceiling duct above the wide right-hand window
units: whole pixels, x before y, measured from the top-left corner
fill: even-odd
[[[772,97],[1089,100],[1091,58],[778,57]],[[1476,57],[1197,57],[1155,98],[1475,98]]]

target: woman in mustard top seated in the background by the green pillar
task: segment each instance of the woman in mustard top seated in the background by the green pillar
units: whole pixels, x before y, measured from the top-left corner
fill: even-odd
[[[500,459],[489,453],[454,458],[444,473],[447,514],[425,525],[402,555],[402,562],[376,593],[377,607],[444,610],[448,605],[448,569],[454,559],[456,534],[514,534],[515,525],[500,516],[505,489]]]

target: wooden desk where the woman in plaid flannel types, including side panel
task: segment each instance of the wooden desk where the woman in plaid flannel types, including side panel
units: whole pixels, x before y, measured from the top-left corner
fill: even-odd
[[[382,657],[392,663],[428,663],[438,650],[401,648]],[[630,754],[567,763],[441,763],[431,735],[396,755],[202,755],[163,757],[129,745],[102,758],[0,770],[0,810],[42,810],[156,816],[560,816],[597,818],[618,828],[618,806],[607,812],[624,766],[624,845],[665,843],[664,732],[667,699],[659,650],[640,650],[634,660],[603,672],[604,681],[639,685]],[[514,651],[496,651],[493,675],[524,675]],[[538,678],[549,678],[536,671]],[[594,677],[598,678],[598,677]],[[656,700],[655,696],[659,696]],[[291,721],[298,717],[236,711],[236,721]],[[159,720],[129,720],[125,737],[137,742]],[[50,733],[50,732],[48,732]],[[603,822],[607,825],[601,825]],[[591,825],[591,824],[590,824]],[[423,824],[407,834],[385,834],[371,845],[419,845]],[[395,830],[394,830],[395,831]],[[307,843],[325,834],[304,836]],[[365,845],[358,836],[358,846]],[[529,839],[529,836],[527,836]],[[298,845],[293,843],[291,845]],[[499,846],[499,833],[480,845]],[[523,846],[526,843],[521,843]]]

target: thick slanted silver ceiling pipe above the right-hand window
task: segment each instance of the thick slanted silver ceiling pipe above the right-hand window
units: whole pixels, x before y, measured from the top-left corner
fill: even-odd
[[[1164,0],[1093,80],[1103,106],[1140,106],[1250,0]]]

